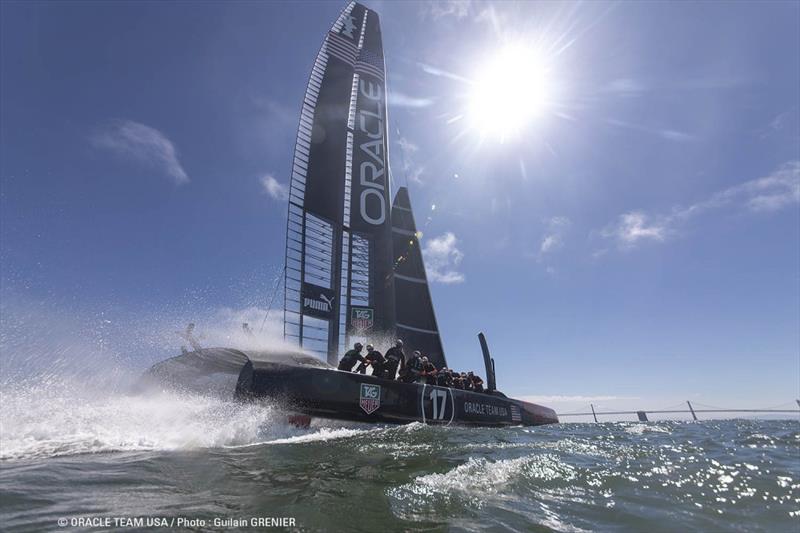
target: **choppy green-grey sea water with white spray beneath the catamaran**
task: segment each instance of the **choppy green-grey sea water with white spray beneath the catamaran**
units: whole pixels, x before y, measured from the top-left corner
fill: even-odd
[[[268,405],[6,384],[0,456],[5,531],[259,518],[306,531],[800,530],[796,419],[298,429]]]

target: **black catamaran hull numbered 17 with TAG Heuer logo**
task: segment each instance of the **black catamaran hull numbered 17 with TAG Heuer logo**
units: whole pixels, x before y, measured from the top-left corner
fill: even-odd
[[[308,362],[302,354],[208,349],[169,359],[148,374],[192,390],[207,387],[209,375],[238,374],[239,400],[266,399],[288,411],[338,420],[489,427],[558,423],[552,409],[499,392],[402,383]]]

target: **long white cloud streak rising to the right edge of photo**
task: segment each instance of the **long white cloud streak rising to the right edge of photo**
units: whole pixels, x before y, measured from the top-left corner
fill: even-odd
[[[664,241],[694,217],[719,209],[772,212],[800,203],[800,161],[788,161],[767,176],[712,194],[689,206],[674,206],[667,214],[631,211],[600,231],[600,235],[630,248],[642,241]]]

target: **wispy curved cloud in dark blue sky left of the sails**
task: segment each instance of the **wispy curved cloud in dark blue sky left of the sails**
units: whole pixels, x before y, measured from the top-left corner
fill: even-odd
[[[176,185],[189,183],[175,145],[155,128],[132,120],[118,120],[97,131],[90,141],[97,148],[159,169]]]

